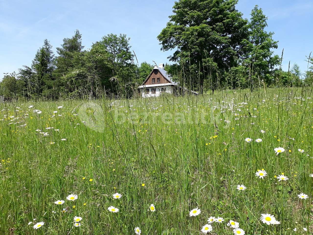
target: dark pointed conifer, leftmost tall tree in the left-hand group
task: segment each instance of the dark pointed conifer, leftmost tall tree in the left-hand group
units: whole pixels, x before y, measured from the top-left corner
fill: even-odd
[[[52,71],[54,70],[54,54],[52,46],[47,39],[44,45],[38,49],[32,63],[32,69],[36,73],[36,91],[38,96],[49,96],[50,90],[53,89]]]

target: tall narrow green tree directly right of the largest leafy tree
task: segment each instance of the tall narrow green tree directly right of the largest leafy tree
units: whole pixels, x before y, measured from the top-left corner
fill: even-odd
[[[256,5],[251,12],[249,38],[244,39],[244,65],[249,67],[250,86],[253,86],[254,80],[266,80],[275,65],[280,63],[279,56],[273,56],[274,52],[271,50],[278,48],[278,42],[272,39],[274,33],[265,31],[266,27],[267,17]]]

